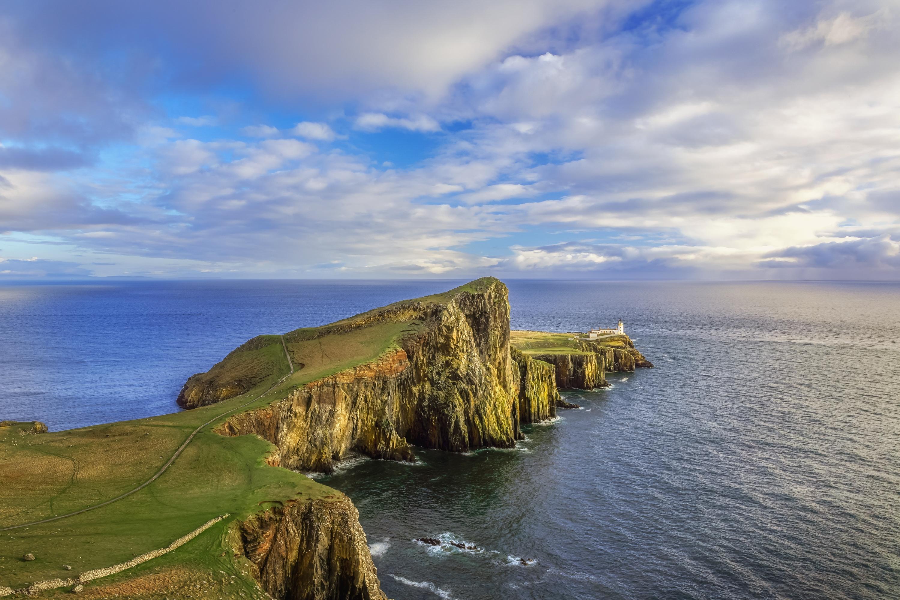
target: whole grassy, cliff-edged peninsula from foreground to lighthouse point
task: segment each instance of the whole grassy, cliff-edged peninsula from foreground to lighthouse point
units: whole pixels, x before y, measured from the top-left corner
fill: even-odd
[[[384,598],[356,507],[298,471],[511,447],[567,406],[558,389],[652,366],[624,334],[582,336],[510,331],[482,278],[257,336],[188,379],[181,412],[4,421],[0,596]]]

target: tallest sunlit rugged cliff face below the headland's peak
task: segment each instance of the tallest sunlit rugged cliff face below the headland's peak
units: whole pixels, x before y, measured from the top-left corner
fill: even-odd
[[[513,446],[518,390],[507,289],[479,282],[443,303],[401,303],[327,328],[324,335],[386,319],[424,323],[392,353],[230,417],[220,433],[261,435],[295,470],[330,471],[353,452],[410,461],[410,443],[455,452]]]

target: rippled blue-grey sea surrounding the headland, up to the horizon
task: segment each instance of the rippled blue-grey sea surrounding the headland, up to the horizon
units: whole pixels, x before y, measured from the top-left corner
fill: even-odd
[[[174,412],[252,336],[458,283],[3,285],[0,418]],[[581,408],[515,449],[320,477],[359,509],[389,597],[900,598],[900,283],[507,284],[512,327],[622,318],[655,366],[566,392]]]

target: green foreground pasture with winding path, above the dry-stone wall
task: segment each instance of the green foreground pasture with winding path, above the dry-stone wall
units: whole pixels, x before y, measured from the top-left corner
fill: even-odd
[[[138,421],[49,434],[0,432],[0,526],[64,514],[120,495],[155,473],[196,426],[269,386],[266,381],[210,407]],[[299,473],[267,466],[263,459],[271,449],[256,436],[223,437],[207,427],[157,481],[133,496],[81,515],[0,533],[0,585],[19,587],[129,560],[168,545],[214,516],[244,518],[261,510],[261,502],[336,493]],[[36,560],[21,560],[26,552]],[[202,552],[197,560],[220,568],[218,554]],[[72,571],[63,570],[63,564]],[[223,570],[235,569],[232,565]]]

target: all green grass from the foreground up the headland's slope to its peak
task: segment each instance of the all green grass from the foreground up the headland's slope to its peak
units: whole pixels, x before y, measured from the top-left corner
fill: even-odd
[[[478,280],[416,301],[446,302],[459,291],[481,291],[490,282]],[[288,351],[295,367],[302,364],[302,368],[247,408],[265,406],[305,383],[374,360],[395,347],[399,336],[420,327],[410,321],[386,322],[318,336],[327,333],[326,327],[371,316],[378,310],[382,309],[285,336],[292,339]],[[211,406],[49,434],[19,434],[16,426],[0,428],[0,480],[4,482],[0,486],[0,528],[92,506],[149,479],[194,428],[254,399],[289,372],[284,350],[277,352],[281,338],[271,338],[266,340],[269,344],[229,354],[231,360],[216,365],[218,375],[226,380],[251,378],[257,385]],[[256,436],[212,433],[225,418],[204,427],[162,477],[133,496],[81,515],[0,533],[0,585],[22,587],[39,579],[71,577],[110,566],[164,547],[217,515],[229,513],[229,521],[244,518],[263,510],[269,501],[334,497],[334,490],[301,474],[267,466],[263,460],[272,446]],[[230,595],[236,589],[251,594],[255,585],[246,577],[246,561],[233,558],[225,539],[227,523],[214,525],[165,557],[103,578],[90,587],[146,580],[146,587],[163,589],[160,581],[193,582],[214,573],[222,580],[237,576],[237,583],[226,585],[217,579],[217,583],[196,589],[192,584],[194,597],[220,597],[226,590]],[[21,560],[26,552],[33,553],[36,560]],[[64,564],[72,570],[62,569]],[[142,596],[140,588],[133,585],[122,589],[122,593]]]

